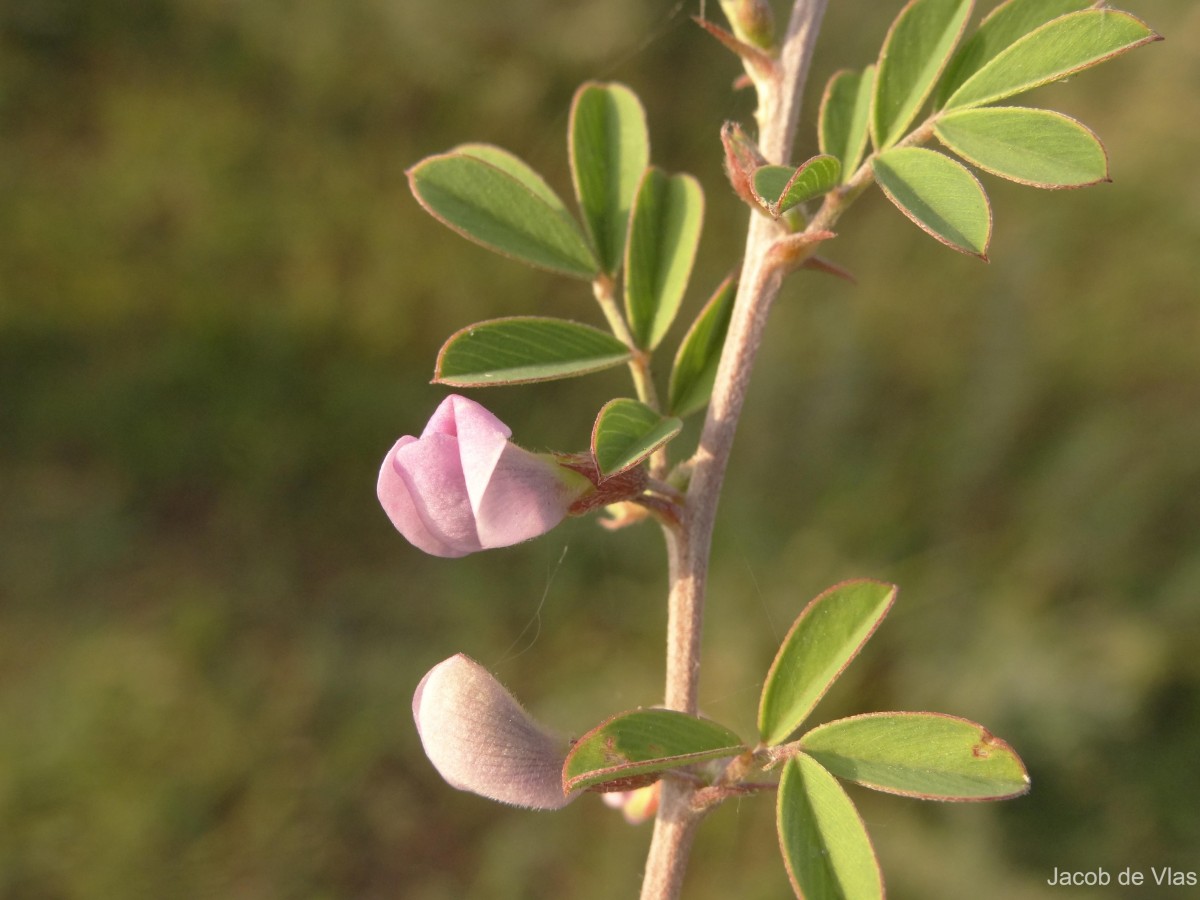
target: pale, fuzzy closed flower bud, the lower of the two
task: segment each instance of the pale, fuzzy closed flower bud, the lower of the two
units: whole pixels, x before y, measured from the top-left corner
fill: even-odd
[[[545,731],[466,654],[431,668],[413,695],[425,755],[460,791],[529,809],[560,809],[568,742]]]

